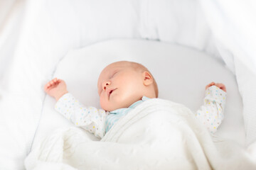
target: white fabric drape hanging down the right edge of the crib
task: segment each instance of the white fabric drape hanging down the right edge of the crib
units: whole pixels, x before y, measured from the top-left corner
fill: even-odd
[[[215,45],[236,74],[242,96],[246,143],[256,140],[256,1],[201,0]]]

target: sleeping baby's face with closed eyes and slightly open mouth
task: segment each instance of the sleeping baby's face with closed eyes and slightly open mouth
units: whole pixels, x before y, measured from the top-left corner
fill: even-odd
[[[102,109],[127,108],[142,99],[143,74],[127,64],[113,63],[103,69],[97,86]]]

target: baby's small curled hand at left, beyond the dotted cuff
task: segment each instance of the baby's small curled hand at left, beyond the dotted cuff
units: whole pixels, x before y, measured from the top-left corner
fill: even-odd
[[[58,101],[58,99],[63,96],[64,94],[67,94],[67,85],[65,84],[65,81],[61,79],[52,79],[44,86],[44,91]]]

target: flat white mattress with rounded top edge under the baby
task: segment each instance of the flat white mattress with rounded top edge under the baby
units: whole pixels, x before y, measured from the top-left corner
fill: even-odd
[[[109,40],[71,50],[59,62],[53,77],[64,79],[68,91],[85,106],[99,108],[97,77],[107,64],[118,60],[144,64],[159,85],[159,98],[183,103],[192,111],[203,104],[206,84],[211,81],[225,84],[225,119],[216,135],[245,145],[242,100],[235,77],[223,62],[203,52],[149,40]],[[33,147],[53,130],[73,126],[54,110],[54,105],[55,99],[46,96]],[[95,137],[92,139],[97,140]]]

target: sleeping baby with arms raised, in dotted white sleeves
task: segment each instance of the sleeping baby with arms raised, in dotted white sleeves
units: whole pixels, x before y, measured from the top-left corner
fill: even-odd
[[[96,137],[104,135],[119,118],[132,111],[140,103],[158,97],[158,87],[151,72],[136,62],[114,62],[102,70],[97,83],[100,106],[83,106],[67,91],[65,81],[53,79],[44,90],[57,103],[55,110],[76,126],[92,132]],[[226,89],[214,82],[206,86],[204,105],[195,115],[213,133],[223,120]]]

